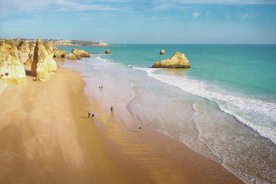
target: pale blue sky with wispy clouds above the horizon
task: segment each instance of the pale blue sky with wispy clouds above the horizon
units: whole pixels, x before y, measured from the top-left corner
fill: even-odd
[[[276,44],[276,0],[0,0],[0,36],[111,44]]]

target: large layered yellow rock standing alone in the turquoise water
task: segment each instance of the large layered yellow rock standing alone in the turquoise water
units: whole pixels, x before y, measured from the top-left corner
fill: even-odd
[[[190,68],[188,59],[180,52],[175,52],[170,59],[153,63],[151,68]]]

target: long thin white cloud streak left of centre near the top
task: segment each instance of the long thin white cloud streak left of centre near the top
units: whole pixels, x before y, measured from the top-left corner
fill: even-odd
[[[131,9],[121,9],[121,8],[115,8],[109,5],[84,5],[84,6],[73,6],[68,8],[60,8],[59,11],[86,11],[86,10],[94,10],[94,11],[109,11],[109,10],[116,10],[116,11],[130,11]]]

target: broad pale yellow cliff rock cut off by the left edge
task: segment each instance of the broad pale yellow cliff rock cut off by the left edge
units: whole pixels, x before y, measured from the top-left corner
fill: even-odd
[[[17,47],[2,42],[0,45],[0,79],[6,83],[26,84],[26,73]]]

